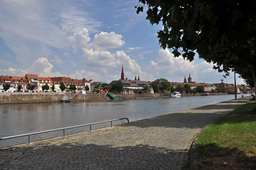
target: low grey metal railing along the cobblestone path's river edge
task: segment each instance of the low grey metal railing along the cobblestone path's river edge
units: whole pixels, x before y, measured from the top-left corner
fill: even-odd
[[[103,121],[103,122],[97,122],[97,123],[91,123],[91,124],[85,124],[85,125],[62,127],[62,128],[56,128],[56,129],[51,129],[51,130],[41,131],[41,132],[33,132],[33,133],[27,133],[27,134],[22,134],[22,135],[1,137],[0,140],[6,140],[6,139],[12,139],[12,138],[16,138],[16,137],[28,136],[28,143],[30,144],[31,143],[30,142],[30,135],[36,135],[36,134],[41,134],[41,133],[47,133],[47,132],[54,132],[54,131],[61,131],[61,130],[63,130],[63,136],[65,137],[66,136],[65,129],[76,128],[76,127],[83,127],[83,126],[90,126],[90,131],[92,131],[92,125],[111,122],[111,127],[112,127],[113,126],[112,122],[117,121],[117,120],[123,120],[123,119],[126,119],[127,122],[130,123],[128,118],[120,118],[120,119],[106,120],[106,121]]]

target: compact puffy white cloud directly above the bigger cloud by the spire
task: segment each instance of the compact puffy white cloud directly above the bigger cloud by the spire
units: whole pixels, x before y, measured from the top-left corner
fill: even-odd
[[[95,50],[106,50],[107,48],[117,48],[125,44],[121,34],[115,32],[95,34],[93,39],[93,47]]]

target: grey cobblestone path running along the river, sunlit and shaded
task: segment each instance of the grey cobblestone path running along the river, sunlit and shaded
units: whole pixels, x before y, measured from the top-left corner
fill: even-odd
[[[195,135],[249,98],[0,150],[0,169],[182,169]],[[146,111],[146,110],[145,110]]]

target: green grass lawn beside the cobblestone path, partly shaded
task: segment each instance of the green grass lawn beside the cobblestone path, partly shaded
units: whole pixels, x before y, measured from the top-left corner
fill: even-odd
[[[196,169],[256,169],[256,101],[205,127],[196,143]]]

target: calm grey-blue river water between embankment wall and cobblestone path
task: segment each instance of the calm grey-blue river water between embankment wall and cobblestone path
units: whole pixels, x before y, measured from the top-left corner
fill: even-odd
[[[245,94],[249,95],[249,94]],[[156,117],[174,112],[206,106],[234,99],[234,95],[193,96],[182,98],[158,98],[136,100],[83,101],[71,103],[0,104],[0,137],[55,128],[83,125],[105,120],[129,118],[135,120]],[[237,95],[241,98],[241,94]],[[126,123],[119,120],[115,124]],[[110,126],[110,123],[93,125],[92,129]],[[67,129],[66,134],[89,131],[90,126]],[[63,131],[37,134],[31,141],[62,136]],[[27,143],[28,137],[1,140],[0,148]]]

